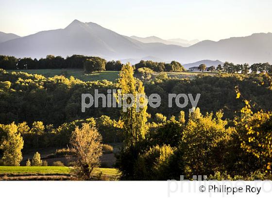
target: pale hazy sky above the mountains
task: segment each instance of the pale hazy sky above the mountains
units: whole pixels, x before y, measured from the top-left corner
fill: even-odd
[[[272,32],[272,0],[0,0],[0,31],[20,36],[74,19],[131,36],[219,40]]]

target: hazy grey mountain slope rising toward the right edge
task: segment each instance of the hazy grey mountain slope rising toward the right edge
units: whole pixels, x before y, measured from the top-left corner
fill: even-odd
[[[189,62],[196,58],[250,64],[272,62],[272,33],[255,33],[218,42],[205,40],[188,47],[182,58],[189,58]]]

